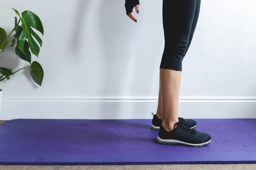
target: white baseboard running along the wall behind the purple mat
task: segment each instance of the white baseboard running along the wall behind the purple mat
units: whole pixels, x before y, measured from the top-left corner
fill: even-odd
[[[0,120],[151,119],[156,97],[5,97]],[[183,118],[256,118],[256,97],[181,97]]]

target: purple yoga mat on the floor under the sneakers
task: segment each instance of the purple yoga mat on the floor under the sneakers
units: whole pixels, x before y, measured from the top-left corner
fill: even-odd
[[[201,148],[157,143],[151,120],[16,119],[0,125],[0,164],[256,163],[256,119],[197,119]]]

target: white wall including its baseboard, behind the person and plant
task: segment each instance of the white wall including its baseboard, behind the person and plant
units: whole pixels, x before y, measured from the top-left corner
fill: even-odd
[[[0,27],[8,34],[16,16],[11,8],[40,17],[44,37],[37,61],[44,79],[38,87],[24,70],[1,82],[0,120],[152,118],[164,47],[162,1],[141,0],[137,23],[126,16],[124,1],[1,3]],[[202,0],[183,61],[180,116],[256,118],[255,6],[254,0]],[[0,66],[27,64],[14,49],[0,53]]]

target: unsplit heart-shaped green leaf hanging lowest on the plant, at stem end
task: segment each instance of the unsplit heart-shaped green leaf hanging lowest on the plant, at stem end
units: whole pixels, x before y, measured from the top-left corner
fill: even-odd
[[[40,86],[42,86],[43,82],[43,68],[42,66],[34,61],[30,66],[30,76],[33,78],[33,80]]]

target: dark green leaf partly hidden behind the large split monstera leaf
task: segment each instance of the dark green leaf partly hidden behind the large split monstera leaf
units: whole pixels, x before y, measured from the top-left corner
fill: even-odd
[[[17,40],[18,40],[19,37],[20,37],[20,35],[21,35],[21,32],[22,32],[22,26],[18,25],[18,26],[16,27],[15,31],[16,31],[16,33],[15,33],[15,35],[13,35],[13,36],[14,36],[15,38],[17,38]],[[16,46],[16,48],[15,48],[15,52],[16,52],[16,54],[17,54],[22,60],[27,61],[29,64],[31,63],[31,53],[30,53],[30,51],[29,51],[29,45],[28,45],[28,42],[27,42],[27,41],[25,41],[25,43],[24,43],[24,52],[25,52],[25,53],[23,53],[23,52],[21,51],[21,49],[19,49],[18,44],[17,44],[17,46]]]

